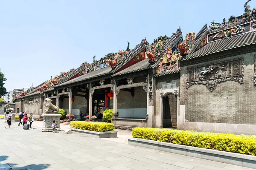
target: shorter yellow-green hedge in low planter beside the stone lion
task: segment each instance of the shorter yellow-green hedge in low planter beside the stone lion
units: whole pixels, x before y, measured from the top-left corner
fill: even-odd
[[[96,131],[96,132],[109,132],[114,130],[113,123],[104,123],[104,122],[76,121],[76,122],[71,122],[70,126],[73,126],[75,129],[90,130],[90,131]]]

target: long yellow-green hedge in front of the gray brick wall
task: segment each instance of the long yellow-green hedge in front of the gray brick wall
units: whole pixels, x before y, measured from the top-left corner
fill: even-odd
[[[256,136],[195,132],[158,128],[135,128],[132,137],[226,152],[256,155]]]

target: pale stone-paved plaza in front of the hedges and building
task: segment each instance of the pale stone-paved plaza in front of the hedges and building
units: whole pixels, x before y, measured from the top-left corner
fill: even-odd
[[[230,164],[128,145],[130,131],[118,138],[97,139],[80,134],[43,133],[43,122],[23,130],[5,129],[0,119],[0,170],[252,170]],[[65,130],[68,126],[61,125]]]

